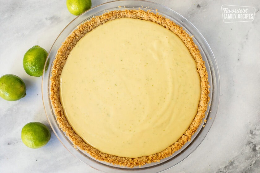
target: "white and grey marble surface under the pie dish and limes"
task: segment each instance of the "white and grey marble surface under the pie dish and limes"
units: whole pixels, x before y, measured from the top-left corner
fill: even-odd
[[[97,6],[107,0],[93,0]],[[201,145],[165,173],[260,172],[260,19],[259,2],[153,0],[177,11],[208,41],[221,80],[219,111]],[[0,98],[0,172],[97,171],[72,156],[52,132],[41,149],[26,147],[20,133],[24,124],[48,125],[41,99],[41,77],[31,77],[22,65],[34,45],[50,50],[62,29],[75,18],[66,2],[0,0],[0,76],[15,74],[27,86],[27,96],[8,102]],[[224,23],[221,6],[253,6],[253,22]],[[49,126],[50,127],[50,126]]]

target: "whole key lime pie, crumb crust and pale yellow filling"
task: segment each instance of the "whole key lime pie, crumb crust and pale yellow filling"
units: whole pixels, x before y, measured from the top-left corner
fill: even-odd
[[[50,81],[57,122],[75,147],[127,167],[179,150],[209,102],[192,37],[143,10],[110,11],[78,26],[59,48]]]

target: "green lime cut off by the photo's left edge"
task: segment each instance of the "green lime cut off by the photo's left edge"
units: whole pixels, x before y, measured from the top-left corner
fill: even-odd
[[[16,101],[26,95],[24,81],[13,74],[6,74],[0,78],[0,97],[8,101]]]

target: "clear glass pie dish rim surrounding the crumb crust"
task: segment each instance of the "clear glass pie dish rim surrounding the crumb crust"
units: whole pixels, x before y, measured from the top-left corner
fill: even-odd
[[[59,128],[59,124],[56,121],[56,116],[54,114],[53,106],[50,101],[50,77],[53,66],[53,61],[55,60],[56,53],[62,43],[66,38],[77,28],[78,25],[84,23],[85,21],[91,19],[93,16],[102,15],[106,11],[113,10],[149,10],[153,13],[158,13],[159,15],[165,16],[167,19],[172,20],[176,24],[183,27],[183,29],[190,35],[194,36],[193,41],[198,46],[200,50],[203,61],[205,61],[205,66],[208,72],[208,81],[210,85],[210,102],[206,111],[206,116],[204,119],[208,120],[207,123],[203,121],[197,132],[192,136],[190,142],[187,142],[180,150],[176,151],[172,156],[160,160],[160,162],[153,162],[145,164],[141,167],[120,167],[118,165],[112,165],[107,162],[98,161],[91,157],[85,151],[80,149],[75,149],[74,144],[70,141],[69,137]],[[213,124],[214,118],[219,104],[220,95],[220,83],[219,83],[219,73],[218,68],[214,59],[214,55],[207,44],[201,33],[183,16],[179,15],[171,9],[148,1],[139,0],[124,0],[124,1],[113,1],[108,2],[99,6],[96,6],[89,11],[86,11],[82,15],[76,17],[71,23],[67,25],[60,33],[60,35],[55,40],[53,46],[50,49],[50,53],[47,57],[45,64],[45,71],[42,77],[42,98],[43,104],[46,111],[47,118],[49,120],[50,126],[53,129],[55,135],[61,141],[61,143],[69,150],[76,158],[79,158],[82,162],[88,164],[90,167],[98,169],[105,172],[160,172],[173,167],[177,163],[184,160],[191,154],[203,141],[207,133]]]

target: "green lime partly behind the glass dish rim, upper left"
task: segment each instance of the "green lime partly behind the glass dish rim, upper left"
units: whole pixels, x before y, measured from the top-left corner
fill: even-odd
[[[43,73],[44,64],[48,53],[40,46],[33,46],[24,54],[24,70],[30,76],[39,77]]]

